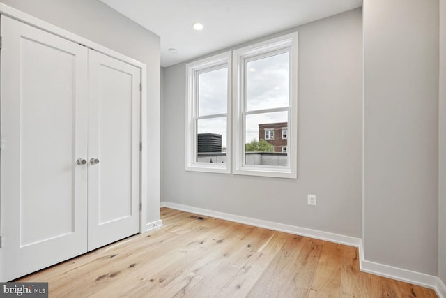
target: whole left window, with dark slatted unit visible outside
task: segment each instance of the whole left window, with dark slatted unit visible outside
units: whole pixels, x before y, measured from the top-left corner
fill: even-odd
[[[231,172],[231,52],[187,64],[186,170]]]

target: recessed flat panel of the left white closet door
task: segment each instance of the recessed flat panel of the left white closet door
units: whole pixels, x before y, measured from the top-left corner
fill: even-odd
[[[21,56],[20,244],[27,246],[74,230],[75,71],[71,54],[36,40],[22,40]],[[48,59],[36,57],[62,67],[51,69]]]

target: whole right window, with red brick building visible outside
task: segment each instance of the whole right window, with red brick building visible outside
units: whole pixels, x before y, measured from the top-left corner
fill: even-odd
[[[234,174],[296,178],[297,142],[289,136],[297,135],[297,33],[235,50],[233,69]],[[245,149],[259,136],[260,126],[279,124],[286,125],[286,146],[274,140],[274,129],[266,129],[265,140],[277,149]]]

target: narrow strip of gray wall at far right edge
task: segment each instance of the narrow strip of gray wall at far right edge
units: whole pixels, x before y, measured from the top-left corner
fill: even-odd
[[[440,170],[438,193],[438,276],[446,284],[446,0],[440,0]]]

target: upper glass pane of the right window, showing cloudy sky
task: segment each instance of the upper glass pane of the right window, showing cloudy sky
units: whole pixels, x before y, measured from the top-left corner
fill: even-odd
[[[247,62],[247,110],[289,106],[289,53]]]

